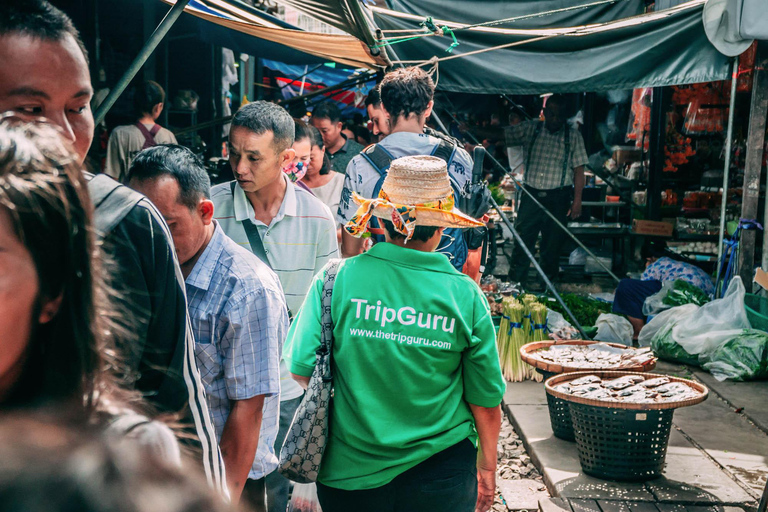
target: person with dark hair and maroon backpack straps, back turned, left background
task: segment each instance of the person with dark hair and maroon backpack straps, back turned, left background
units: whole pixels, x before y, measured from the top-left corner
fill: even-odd
[[[133,124],[118,126],[109,136],[107,162],[104,172],[119,182],[125,182],[128,167],[142,150],[158,144],[176,144],[176,137],[159,124],[163,112],[165,91],[157,82],[142,82],[133,93]]]

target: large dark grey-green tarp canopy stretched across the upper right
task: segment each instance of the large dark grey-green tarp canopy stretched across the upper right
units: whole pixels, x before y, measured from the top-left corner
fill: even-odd
[[[331,1],[331,0],[329,0]],[[473,21],[499,19],[501,2],[467,0],[392,0],[410,8],[427,4],[440,7],[439,13],[458,11]],[[525,20],[530,27],[538,20],[539,28],[509,28],[511,25],[460,30],[460,43],[452,53],[447,36],[420,37],[394,44],[394,53],[406,64],[423,63],[437,57],[438,89],[465,93],[539,94],[545,92],[582,92],[688,84],[726,79],[729,59],[707,40],[702,25],[705,0],[692,0],[664,11],[633,15],[628,18],[592,22],[587,25],[553,26],[549,16]],[[510,2],[517,5],[517,2]],[[555,2],[522,2],[533,4]],[[566,2],[567,3],[567,2]],[[573,3],[573,2],[571,2]],[[559,5],[562,5],[558,2]],[[616,2],[613,12],[591,11],[593,19],[630,9],[636,2]],[[481,6],[489,9],[480,13]],[[384,31],[419,30],[425,14],[408,14],[371,7],[376,25]],[[606,7],[607,9],[607,7]],[[541,12],[540,8],[525,14]],[[572,16],[586,11],[570,11]],[[434,15],[435,12],[426,13]],[[514,15],[514,13],[513,13]],[[565,13],[561,14],[562,16]],[[466,24],[440,19],[434,22],[452,29]],[[547,21],[545,21],[547,20]],[[387,37],[408,36],[407,32],[387,32]],[[489,48],[508,45],[491,51]],[[480,52],[461,57],[471,52]]]

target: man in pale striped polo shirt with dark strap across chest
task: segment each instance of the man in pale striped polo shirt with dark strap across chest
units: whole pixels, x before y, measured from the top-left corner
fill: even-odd
[[[297,313],[312,278],[337,258],[336,221],[310,192],[291,183],[282,171],[295,156],[294,122],[282,107],[265,101],[244,105],[232,119],[229,162],[235,181],[213,188],[216,220],[224,232],[250,249],[280,278],[291,314]],[[280,450],[303,390],[280,364]],[[285,512],[288,480],[267,476],[269,512]]]

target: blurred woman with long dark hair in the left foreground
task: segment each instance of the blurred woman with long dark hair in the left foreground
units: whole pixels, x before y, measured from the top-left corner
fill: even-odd
[[[0,118],[0,411],[55,408],[180,462],[175,436],[120,388],[120,329],[77,157],[49,124]]]

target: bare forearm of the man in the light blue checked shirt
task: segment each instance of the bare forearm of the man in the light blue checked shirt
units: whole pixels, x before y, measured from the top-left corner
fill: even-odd
[[[264,395],[233,400],[219,446],[232,503],[238,503],[259,446]]]

